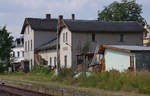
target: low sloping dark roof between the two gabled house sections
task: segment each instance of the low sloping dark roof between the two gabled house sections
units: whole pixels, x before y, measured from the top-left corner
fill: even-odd
[[[38,52],[38,51],[43,51],[43,50],[48,50],[48,49],[56,49],[56,40],[57,38],[54,37],[48,42],[42,44],[39,48],[36,48],[35,51]]]

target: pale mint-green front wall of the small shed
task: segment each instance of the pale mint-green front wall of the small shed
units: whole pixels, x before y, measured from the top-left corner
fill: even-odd
[[[104,58],[106,71],[115,69],[123,72],[127,70],[130,67],[130,56],[135,56],[135,54],[105,49]],[[134,66],[136,68],[136,61],[134,62]]]

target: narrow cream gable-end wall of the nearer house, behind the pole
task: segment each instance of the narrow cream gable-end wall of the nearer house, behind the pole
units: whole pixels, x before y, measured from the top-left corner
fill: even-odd
[[[63,34],[67,33],[67,41],[63,41]],[[66,35],[65,35],[66,38]],[[61,67],[65,67],[65,56],[67,56],[67,68],[72,67],[72,35],[71,32],[64,28],[60,33],[60,65]]]

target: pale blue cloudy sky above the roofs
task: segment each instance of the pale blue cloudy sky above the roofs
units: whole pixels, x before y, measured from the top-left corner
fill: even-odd
[[[121,0],[0,0],[0,26],[6,25],[14,37],[19,37],[26,17],[45,18],[50,13],[52,18],[71,18],[75,13],[78,19],[96,19],[98,10],[113,1]],[[150,24],[150,0],[137,2],[143,5],[142,16]]]

